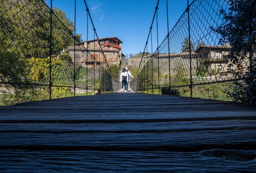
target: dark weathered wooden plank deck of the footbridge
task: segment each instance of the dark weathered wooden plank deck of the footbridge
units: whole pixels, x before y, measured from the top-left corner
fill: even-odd
[[[0,170],[256,172],[256,109],[116,92],[0,107]]]

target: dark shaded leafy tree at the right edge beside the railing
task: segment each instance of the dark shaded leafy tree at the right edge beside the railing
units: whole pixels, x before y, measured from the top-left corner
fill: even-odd
[[[256,1],[229,0],[229,11],[221,10],[223,25],[213,31],[221,35],[220,43],[229,42],[232,46],[227,58],[239,65],[249,57],[249,66],[243,82],[237,81],[234,90],[235,101],[256,104]]]

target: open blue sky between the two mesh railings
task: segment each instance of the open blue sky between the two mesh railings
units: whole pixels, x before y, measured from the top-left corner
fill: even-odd
[[[50,4],[50,0],[46,0]],[[75,0],[52,0],[53,7],[62,9],[67,18],[74,22]],[[85,0],[92,22],[99,38],[118,37],[122,42],[122,53],[143,52],[155,13],[157,0]],[[192,0],[189,0],[189,4]],[[50,5],[49,5],[50,6]],[[169,31],[180,19],[187,7],[187,0],[168,0]],[[158,42],[162,43],[168,33],[166,0],[158,5]],[[88,31],[88,32],[87,32]],[[82,34],[83,41],[94,39],[92,23],[89,19],[84,0],[76,0],[76,33]],[[87,36],[88,33],[88,36]],[[153,43],[148,42],[148,52],[157,48],[156,19],[152,29]]]

